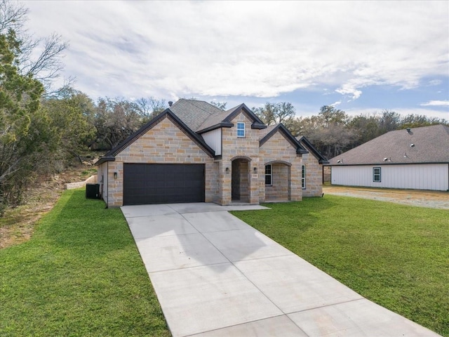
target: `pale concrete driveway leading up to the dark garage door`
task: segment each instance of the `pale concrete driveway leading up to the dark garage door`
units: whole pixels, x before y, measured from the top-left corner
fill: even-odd
[[[173,336],[438,336],[227,212],[243,209],[264,207],[121,208]]]

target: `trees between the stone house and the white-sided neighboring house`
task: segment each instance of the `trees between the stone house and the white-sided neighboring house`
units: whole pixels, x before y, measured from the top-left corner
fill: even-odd
[[[403,116],[391,110],[349,116],[331,105],[324,105],[310,117],[296,117],[295,107],[290,103],[266,103],[253,111],[268,125],[282,123],[293,136],[305,136],[328,159],[389,131],[435,124],[449,126],[446,119],[422,114]]]

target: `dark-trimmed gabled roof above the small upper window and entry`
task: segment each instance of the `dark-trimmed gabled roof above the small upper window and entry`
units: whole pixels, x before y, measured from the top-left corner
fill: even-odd
[[[198,133],[204,133],[220,127],[230,128],[234,126],[234,124],[232,124],[232,119],[234,119],[241,111],[250,121],[253,122],[253,124],[251,124],[251,128],[262,129],[267,127],[252,110],[250,110],[245,104],[241,104],[227,111],[222,111],[217,114],[210,114],[210,116],[203,122],[203,124],[201,124],[201,126],[199,126],[196,131]]]

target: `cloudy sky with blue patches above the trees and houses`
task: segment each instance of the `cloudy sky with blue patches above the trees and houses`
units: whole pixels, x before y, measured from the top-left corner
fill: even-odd
[[[55,86],[449,120],[449,1],[22,1],[69,43]]]

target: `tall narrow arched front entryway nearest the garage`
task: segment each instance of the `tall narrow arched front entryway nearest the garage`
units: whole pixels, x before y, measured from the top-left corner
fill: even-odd
[[[248,157],[232,159],[232,201],[250,202],[250,161]]]

